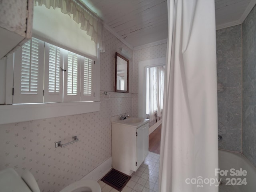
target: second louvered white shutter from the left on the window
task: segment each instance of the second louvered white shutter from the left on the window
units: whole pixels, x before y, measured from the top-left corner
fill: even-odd
[[[64,50],[45,43],[44,102],[62,102]]]

